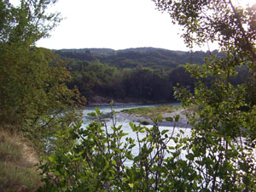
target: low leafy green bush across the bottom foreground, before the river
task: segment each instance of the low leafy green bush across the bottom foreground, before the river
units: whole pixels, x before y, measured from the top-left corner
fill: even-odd
[[[113,111],[113,116],[115,112]],[[130,124],[136,138],[107,127],[101,112],[88,127],[55,135],[66,148],[41,161],[38,191],[243,191],[255,189],[252,150],[218,133],[175,136],[172,130]],[[173,121],[172,117],[167,120]],[[175,117],[178,121],[178,116]],[[172,144],[171,144],[172,143]],[[137,151],[137,152],[136,152]],[[247,152],[245,152],[247,151]]]

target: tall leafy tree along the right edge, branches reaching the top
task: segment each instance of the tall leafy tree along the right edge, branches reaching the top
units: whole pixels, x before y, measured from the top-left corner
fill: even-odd
[[[185,147],[189,151],[186,164],[200,177],[181,178],[183,190],[193,189],[192,185],[186,189],[185,184],[195,180],[194,186],[202,191],[255,190],[255,156],[249,146],[254,147],[256,138],[256,108],[246,93],[255,89],[256,5],[242,8],[231,0],[154,2],[183,26],[182,37],[189,47],[218,42],[225,55],[218,58],[212,54],[204,65],[187,65],[192,76],[212,77],[212,82],[206,85],[199,81],[193,94],[185,89],[176,92],[183,106],[198,107],[188,113],[193,132]],[[230,76],[236,75],[235,68],[241,65],[247,65],[251,77],[246,84],[234,87]]]

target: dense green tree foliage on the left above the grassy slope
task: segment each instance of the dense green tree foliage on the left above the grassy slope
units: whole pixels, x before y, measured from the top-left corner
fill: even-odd
[[[73,110],[78,94],[65,84],[71,80],[66,65],[53,62],[55,54],[50,50],[34,46],[60,21],[58,14],[46,14],[53,3],[0,3],[0,123],[22,131],[38,148],[56,128],[79,115]]]

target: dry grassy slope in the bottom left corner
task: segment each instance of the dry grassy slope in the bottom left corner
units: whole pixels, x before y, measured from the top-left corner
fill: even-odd
[[[35,191],[40,183],[32,147],[18,135],[0,130],[0,191]]]

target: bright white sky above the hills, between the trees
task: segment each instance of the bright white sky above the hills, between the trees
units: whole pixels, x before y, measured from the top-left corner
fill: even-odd
[[[39,47],[189,50],[180,38],[180,27],[151,0],[59,0],[51,10],[65,19],[51,37],[37,42]]]

